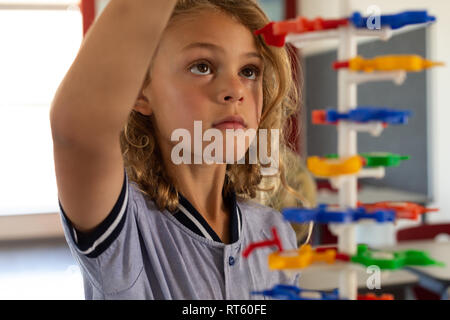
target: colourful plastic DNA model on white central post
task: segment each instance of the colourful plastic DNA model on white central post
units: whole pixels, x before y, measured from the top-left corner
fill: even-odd
[[[316,125],[335,125],[338,131],[338,152],[327,156],[312,156],[307,159],[309,171],[317,178],[329,179],[338,189],[339,203],[320,204],[317,208],[284,208],[283,217],[292,223],[330,224],[330,230],[338,237],[337,247],[312,248],[309,244],[297,250],[283,250],[276,228],[272,238],[251,243],[243,256],[252,259],[251,253],[264,247],[275,251],[268,255],[271,270],[296,271],[314,264],[344,265],[341,271],[340,287],[331,291],[306,290],[297,286],[278,284],[253,295],[262,295],[282,300],[393,300],[392,295],[361,295],[357,292],[356,272],[352,264],[378,266],[380,269],[395,270],[404,266],[443,266],[427,252],[419,250],[380,251],[366,244],[356,243],[357,223],[395,223],[399,219],[417,220],[425,212],[437,211],[410,202],[378,202],[364,204],[357,200],[357,179],[383,178],[385,167],[397,167],[408,160],[407,155],[388,152],[358,154],[357,135],[354,132],[371,132],[378,136],[387,125],[406,125],[412,116],[409,110],[395,110],[388,107],[358,106],[356,86],[373,81],[393,81],[401,84],[407,72],[442,66],[417,55],[386,55],[363,58],[357,55],[358,36],[373,36],[387,40],[392,30],[413,24],[430,24],[436,21],[427,11],[405,11],[396,14],[363,17],[359,12],[351,13],[350,2],[341,1],[344,18],[308,19],[297,17],[292,20],[271,22],[260,30],[268,45],[282,47],[289,43],[302,48],[311,41],[338,39],[338,61],[333,68],[338,72],[337,110],[315,110],[312,122]],[[345,14],[348,14],[345,17]],[[370,19],[369,19],[370,18]],[[378,29],[373,28],[373,22]],[[346,268],[347,266],[348,268]]]

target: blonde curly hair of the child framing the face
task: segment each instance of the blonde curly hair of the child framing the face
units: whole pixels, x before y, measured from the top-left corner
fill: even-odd
[[[201,10],[219,10],[228,14],[253,31],[264,27],[269,19],[253,0],[179,0],[169,20],[168,26],[178,19],[191,16]],[[265,44],[262,38],[255,36],[257,49],[264,59],[263,108],[258,129],[279,129],[280,145],[293,148],[286,132],[291,132],[292,115],[298,113],[299,96],[293,80],[292,55],[288,48],[275,48]],[[151,82],[151,65],[143,82],[142,91]],[[162,160],[161,150],[156,143],[151,116],[145,116],[133,110],[120,134],[120,143],[125,168],[130,180],[152,199],[157,207],[171,212],[178,204],[178,191],[167,174]],[[270,146],[269,146],[270,148]],[[246,153],[248,160],[249,152]],[[259,157],[258,157],[259,158]],[[261,164],[228,164],[224,193],[234,191],[241,198],[255,198],[261,192]],[[284,168],[280,168],[284,170]],[[284,183],[284,182],[283,182]],[[267,191],[270,192],[270,191]]]

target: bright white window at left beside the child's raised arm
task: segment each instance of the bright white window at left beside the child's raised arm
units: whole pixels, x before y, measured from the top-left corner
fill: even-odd
[[[0,218],[58,212],[49,111],[81,45],[77,3],[0,0]]]

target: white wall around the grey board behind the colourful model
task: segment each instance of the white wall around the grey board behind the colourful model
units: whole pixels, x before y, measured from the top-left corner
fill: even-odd
[[[338,18],[340,3],[343,0],[302,0],[300,14],[309,18],[321,16]],[[350,0],[355,11],[365,14],[367,8],[376,5],[382,14],[405,10],[426,9],[436,16],[437,22],[428,28],[429,57],[443,61],[446,67],[431,69],[429,72],[429,136],[430,136],[430,186],[434,201],[430,206],[439,207],[438,213],[429,214],[432,222],[450,221],[450,1],[448,0]],[[405,28],[406,29],[406,28]],[[303,54],[317,54],[335,47],[336,42],[323,41],[303,50]],[[447,140],[449,139],[449,140]]]

